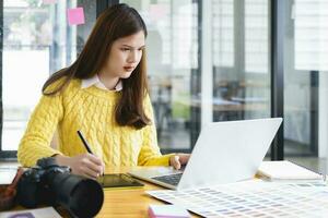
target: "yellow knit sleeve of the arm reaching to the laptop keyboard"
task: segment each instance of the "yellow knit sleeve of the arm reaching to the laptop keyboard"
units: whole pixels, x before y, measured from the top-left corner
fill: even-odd
[[[156,126],[154,124],[154,113],[149,95],[144,100],[145,114],[151,120],[151,124],[144,126],[142,147],[139,153],[139,166],[169,166],[169,157],[174,154],[162,155],[157,145]]]

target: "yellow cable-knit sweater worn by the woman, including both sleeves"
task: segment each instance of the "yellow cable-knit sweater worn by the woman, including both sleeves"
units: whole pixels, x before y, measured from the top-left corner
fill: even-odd
[[[55,96],[43,96],[21,140],[19,161],[30,167],[39,158],[55,154],[75,156],[86,153],[77,134],[81,130],[93,153],[103,159],[106,167],[167,166],[172,155],[162,156],[160,153],[149,96],[143,105],[152,124],[141,130],[116,123],[114,109],[119,96],[120,92],[96,86],[82,89],[81,80],[72,80],[65,90]],[[58,150],[50,147],[56,131]]]

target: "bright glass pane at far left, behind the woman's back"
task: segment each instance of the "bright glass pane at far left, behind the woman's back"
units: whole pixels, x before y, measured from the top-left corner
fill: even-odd
[[[2,3],[2,2],[1,2]],[[69,26],[67,9],[83,5],[85,24]],[[16,150],[42,86],[75,60],[96,19],[92,0],[3,1],[2,150]]]

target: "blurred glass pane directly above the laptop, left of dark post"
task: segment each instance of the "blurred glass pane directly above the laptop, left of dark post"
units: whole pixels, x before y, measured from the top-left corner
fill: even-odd
[[[270,117],[270,7],[212,0],[213,121]]]

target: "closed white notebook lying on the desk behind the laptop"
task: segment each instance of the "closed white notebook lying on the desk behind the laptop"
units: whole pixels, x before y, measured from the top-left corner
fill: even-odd
[[[323,180],[323,175],[288,160],[261,162],[258,175],[271,180]]]

